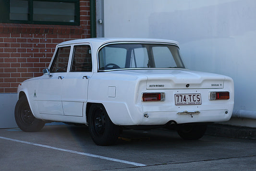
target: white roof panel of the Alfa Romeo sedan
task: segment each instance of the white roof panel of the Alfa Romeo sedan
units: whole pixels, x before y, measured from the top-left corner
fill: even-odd
[[[58,44],[58,46],[76,44],[76,43],[91,43],[97,46],[101,46],[106,43],[112,42],[145,42],[145,43],[171,43],[178,46],[178,42],[165,39],[144,39],[144,38],[87,38],[87,39],[76,39],[66,41]]]

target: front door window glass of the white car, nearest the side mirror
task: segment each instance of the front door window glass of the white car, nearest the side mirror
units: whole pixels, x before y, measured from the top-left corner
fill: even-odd
[[[58,48],[54,56],[53,62],[51,64],[50,72],[51,73],[67,72],[69,54],[70,54],[70,46]]]

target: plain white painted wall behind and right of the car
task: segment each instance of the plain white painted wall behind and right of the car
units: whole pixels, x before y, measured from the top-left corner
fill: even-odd
[[[255,17],[256,0],[104,0],[105,37],[178,41],[187,68],[233,78],[234,111],[256,111]]]

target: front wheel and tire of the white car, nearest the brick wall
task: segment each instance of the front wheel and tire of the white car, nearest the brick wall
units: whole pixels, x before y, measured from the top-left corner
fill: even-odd
[[[18,127],[25,132],[37,132],[45,125],[43,120],[34,117],[26,96],[19,98],[15,106],[14,116]]]

